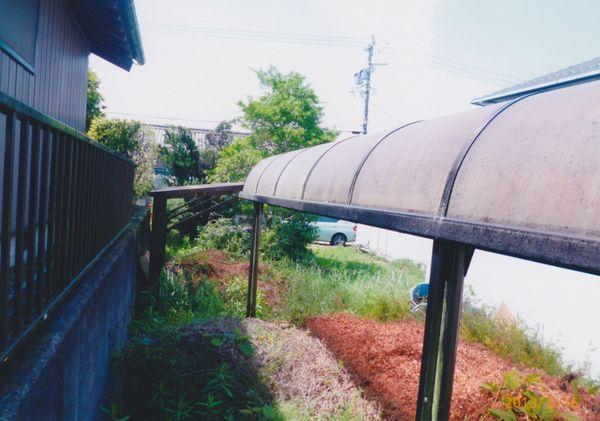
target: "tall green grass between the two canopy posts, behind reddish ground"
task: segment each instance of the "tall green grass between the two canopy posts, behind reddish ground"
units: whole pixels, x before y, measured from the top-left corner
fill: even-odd
[[[347,311],[380,321],[410,315],[409,290],[423,281],[422,266],[386,262],[350,247],[315,247],[314,259],[276,265],[285,279],[279,316],[294,323],[307,317]]]

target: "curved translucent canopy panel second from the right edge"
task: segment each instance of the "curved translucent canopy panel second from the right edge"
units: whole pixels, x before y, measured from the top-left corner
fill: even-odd
[[[351,203],[371,206],[377,201],[384,209],[437,214],[456,157],[499,108],[423,121],[392,133],[373,148],[357,173]]]

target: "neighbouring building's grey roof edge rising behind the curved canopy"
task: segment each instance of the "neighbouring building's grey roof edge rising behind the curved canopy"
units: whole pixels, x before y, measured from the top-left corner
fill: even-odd
[[[488,105],[504,102],[535,92],[549,91],[598,79],[600,79],[600,57],[476,98],[471,104]]]

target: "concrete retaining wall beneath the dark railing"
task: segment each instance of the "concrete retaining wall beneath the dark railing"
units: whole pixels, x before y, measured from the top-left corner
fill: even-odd
[[[97,419],[133,314],[145,211],[0,370],[0,419]]]

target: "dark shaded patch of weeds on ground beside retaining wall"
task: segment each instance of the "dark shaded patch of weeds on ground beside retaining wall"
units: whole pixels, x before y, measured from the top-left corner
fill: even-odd
[[[136,335],[119,361],[121,392],[109,418],[280,418],[238,319],[150,331]]]

